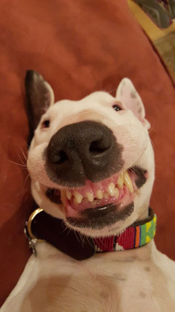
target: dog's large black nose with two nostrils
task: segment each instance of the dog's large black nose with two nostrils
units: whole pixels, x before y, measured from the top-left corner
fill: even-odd
[[[57,131],[47,148],[46,171],[63,186],[98,182],[122,168],[122,146],[111,129],[96,121],[82,121]]]

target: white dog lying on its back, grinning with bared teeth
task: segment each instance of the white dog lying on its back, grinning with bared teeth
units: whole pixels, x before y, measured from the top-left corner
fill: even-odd
[[[150,124],[131,80],[120,82],[115,98],[99,91],[56,103],[35,71],[27,71],[25,88],[35,202],[63,220],[82,246],[82,237],[97,244],[96,253],[79,261],[46,241],[37,243],[37,257],[30,256],[1,312],[175,311],[175,263],[149,235],[143,246],[136,236],[134,248],[123,247],[132,229],[146,224],[147,233],[156,222],[156,216],[149,221]],[[110,252],[103,252],[105,239]],[[76,254],[76,243],[72,249]]]

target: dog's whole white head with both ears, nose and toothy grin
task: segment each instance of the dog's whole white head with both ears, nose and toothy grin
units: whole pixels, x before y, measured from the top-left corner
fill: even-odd
[[[27,167],[39,207],[85,235],[122,232],[147,217],[154,153],[143,103],[123,79],[116,98],[94,92],[54,104],[34,71],[25,80],[31,141]]]

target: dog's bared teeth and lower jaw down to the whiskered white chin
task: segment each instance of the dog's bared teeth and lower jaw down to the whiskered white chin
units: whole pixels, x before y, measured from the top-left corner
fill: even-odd
[[[133,222],[135,195],[147,177],[145,169],[131,168],[124,183],[117,174],[82,188],[49,188],[44,195],[64,210],[67,227],[92,237],[116,235]]]

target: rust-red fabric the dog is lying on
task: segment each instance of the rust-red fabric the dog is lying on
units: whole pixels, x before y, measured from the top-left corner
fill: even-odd
[[[23,235],[32,210],[30,181],[18,153],[28,134],[25,71],[52,85],[56,100],[77,100],[95,90],[115,94],[127,76],[144,101],[155,148],[156,180],[151,206],[158,216],[157,247],[175,258],[174,86],[140,29],[127,1],[1,0],[0,2],[0,250],[1,302],[30,255]],[[25,183],[25,187],[24,187]]]

